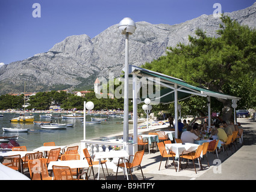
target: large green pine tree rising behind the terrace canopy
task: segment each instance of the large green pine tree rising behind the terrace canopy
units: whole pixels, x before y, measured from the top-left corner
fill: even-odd
[[[219,37],[208,37],[197,29],[196,37],[189,36],[188,45],[180,43],[168,47],[166,56],[143,67],[178,77],[195,86],[241,97],[237,103],[239,108],[255,107],[256,30],[227,16],[220,19]],[[231,101],[217,100],[222,102],[223,118],[230,119],[233,112]],[[190,104],[190,110],[192,103],[197,103],[195,101],[192,98],[186,102]],[[216,102],[211,104],[215,109],[217,105]]]

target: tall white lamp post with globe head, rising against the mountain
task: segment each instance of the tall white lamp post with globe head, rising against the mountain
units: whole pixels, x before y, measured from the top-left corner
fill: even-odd
[[[124,89],[124,101],[123,101],[123,146],[125,148],[125,150],[128,152],[128,149],[126,149],[127,147],[127,143],[128,143],[128,137],[129,137],[129,109],[128,109],[128,97],[129,97],[129,85],[128,85],[128,75],[129,75],[129,52],[128,52],[128,37],[129,35],[133,34],[135,29],[136,29],[136,25],[135,22],[129,18],[129,17],[125,17],[123,18],[119,25],[118,28],[120,30],[120,32],[125,35],[125,89]]]

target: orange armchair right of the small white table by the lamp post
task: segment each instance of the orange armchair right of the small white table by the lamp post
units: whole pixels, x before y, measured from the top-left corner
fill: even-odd
[[[140,170],[142,171],[142,166],[140,166],[140,164],[142,163],[143,155],[144,155],[144,150],[137,151],[135,155],[130,155],[129,160],[126,160],[124,158],[119,158],[118,164],[117,164],[117,170],[116,170],[116,178],[117,178],[117,173],[118,173],[118,167],[123,167],[123,169],[125,169],[125,167],[126,167],[127,169],[129,169],[130,174],[131,174],[131,168],[134,168],[134,167],[140,167]],[[130,163],[131,157],[134,157],[132,163]],[[120,163],[120,160],[123,160],[123,161],[126,160],[127,162]],[[143,172],[142,172],[142,178],[144,180]],[[133,180],[132,174],[131,174],[131,179]]]

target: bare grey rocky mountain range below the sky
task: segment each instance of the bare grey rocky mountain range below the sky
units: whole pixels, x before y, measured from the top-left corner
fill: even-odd
[[[242,25],[256,26],[256,2],[244,10],[225,13]],[[140,66],[164,55],[166,47],[189,43],[189,35],[201,28],[215,36],[220,19],[202,15],[187,22],[152,25],[137,22],[130,35],[130,64]],[[46,91],[67,88],[92,88],[96,77],[108,78],[109,73],[121,74],[125,61],[125,40],[118,24],[110,26],[94,38],[73,35],[57,43],[46,53],[23,61],[11,62],[0,68],[0,94],[26,91]]]

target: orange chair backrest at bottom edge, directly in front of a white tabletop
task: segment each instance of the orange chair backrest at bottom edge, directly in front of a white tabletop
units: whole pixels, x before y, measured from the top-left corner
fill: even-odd
[[[70,167],[67,166],[52,166],[55,180],[73,180]]]

